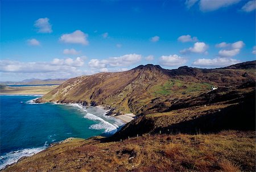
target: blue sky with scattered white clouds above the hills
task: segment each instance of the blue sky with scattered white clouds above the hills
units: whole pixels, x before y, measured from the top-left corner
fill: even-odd
[[[255,60],[255,0],[0,3],[0,81]]]

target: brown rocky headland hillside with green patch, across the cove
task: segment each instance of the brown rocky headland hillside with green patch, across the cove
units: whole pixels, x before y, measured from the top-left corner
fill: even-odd
[[[246,67],[247,66],[247,67]],[[141,65],[127,72],[71,78],[37,102],[103,104],[113,113],[144,115],[173,102],[207,93],[212,86],[234,87],[255,81],[255,61],[220,69]],[[154,111],[152,111],[154,110]]]

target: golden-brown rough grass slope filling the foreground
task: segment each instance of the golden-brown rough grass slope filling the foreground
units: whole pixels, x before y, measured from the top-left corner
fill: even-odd
[[[255,132],[73,139],[3,171],[255,171]]]

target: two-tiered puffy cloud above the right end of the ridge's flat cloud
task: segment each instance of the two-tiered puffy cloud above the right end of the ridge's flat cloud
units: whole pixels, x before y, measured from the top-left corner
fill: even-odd
[[[217,48],[226,48],[226,49],[221,49],[218,54],[221,57],[233,57],[236,56],[237,54],[240,53],[240,50],[245,46],[245,43],[243,41],[237,41],[235,43],[225,43],[222,42],[220,44],[217,44]]]

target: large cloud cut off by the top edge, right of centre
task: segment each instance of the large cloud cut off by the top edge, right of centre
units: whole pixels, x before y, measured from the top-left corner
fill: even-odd
[[[240,1],[241,0],[201,0],[200,10],[204,12],[214,11],[222,7],[228,7],[228,6],[234,5]]]

